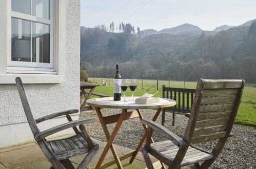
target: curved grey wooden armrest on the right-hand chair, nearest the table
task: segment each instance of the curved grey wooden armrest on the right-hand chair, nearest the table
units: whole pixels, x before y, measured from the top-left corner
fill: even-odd
[[[187,143],[182,138],[172,133],[170,130],[166,129],[163,125],[157,122],[154,122],[152,120],[145,120],[145,119],[142,120],[142,123],[148,125],[154,131],[160,132],[161,134],[166,136],[168,139],[170,139],[178,147],[180,148],[186,147]]]

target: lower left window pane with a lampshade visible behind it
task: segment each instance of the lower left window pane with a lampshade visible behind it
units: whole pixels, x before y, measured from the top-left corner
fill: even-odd
[[[12,61],[31,61],[30,21],[12,17]]]

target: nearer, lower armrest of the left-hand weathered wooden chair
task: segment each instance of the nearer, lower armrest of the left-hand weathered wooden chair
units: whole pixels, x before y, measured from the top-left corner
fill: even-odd
[[[52,135],[54,133],[63,131],[63,130],[68,129],[68,128],[72,128],[73,126],[82,125],[82,124],[86,124],[86,123],[91,123],[91,122],[94,122],[94,121],[95,121],[94,117],[88,117],[88,118],[84,118],[84,119],[70,121],[70,122],[67,122],[67,123],[64,123],[64,124],[54,126],[53,128],[47,129],[43,132],[40,132],[40,133],[36,134],[34,136],[34,138],[35,138],[36,141],[39,141],[39,140],[41,140],[41,139],[43,139],[43,138],[45,138],[49,135]]]

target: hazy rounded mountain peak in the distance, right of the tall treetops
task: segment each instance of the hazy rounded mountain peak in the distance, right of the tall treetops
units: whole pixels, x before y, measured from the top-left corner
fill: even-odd
[[[194,26],[191,24],[183,24],[177,27],[163,29],[159,31],[159,33],[178,34],[181,32],[188,32],[188,31],[203,31],[203,30],[198,26]]]

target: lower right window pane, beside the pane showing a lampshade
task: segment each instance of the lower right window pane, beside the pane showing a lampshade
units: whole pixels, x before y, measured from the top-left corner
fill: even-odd
[[[50,26],[32,22],[32,61],[50,63]]]

